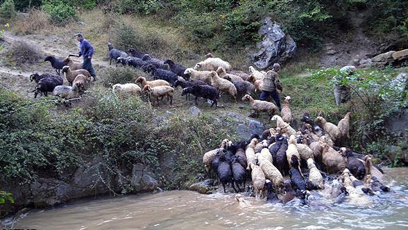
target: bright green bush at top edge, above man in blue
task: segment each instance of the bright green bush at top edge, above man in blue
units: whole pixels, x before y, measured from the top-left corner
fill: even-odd
[[[49,21],[57,26],[63,26],[76,17],[74,7],[62,0],[44,0],[42,1],[42,9],[48,13]]]

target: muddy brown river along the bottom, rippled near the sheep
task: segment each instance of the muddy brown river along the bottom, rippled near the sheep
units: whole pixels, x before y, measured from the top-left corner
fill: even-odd
[[[14,229],[408,229],[408,168],[387,169],[393,192],[368,202],[314,199],[266,204],[188,190],[80,201],[19,217]]]

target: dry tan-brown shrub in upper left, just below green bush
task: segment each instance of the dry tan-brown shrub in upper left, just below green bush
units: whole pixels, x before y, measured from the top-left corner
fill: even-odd
[[[35,31],[41,31],[49,25],[47,15],[43,10],[31,9],[28,15],[21,16],[12,26],[12,31],[17,35],[32,34]]]

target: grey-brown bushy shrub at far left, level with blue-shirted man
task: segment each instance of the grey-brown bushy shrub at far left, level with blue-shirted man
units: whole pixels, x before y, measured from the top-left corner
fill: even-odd
[[[15,65],[40,63],[44,54],[37,50],[31,44],[23,41],[17,41],[6,51],[10,63]]]

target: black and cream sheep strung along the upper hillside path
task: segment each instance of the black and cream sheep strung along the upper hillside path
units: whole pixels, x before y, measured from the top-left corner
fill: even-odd
[[[129,65],[144,72],[150,73],[152,79],[139,77],[135,83],[112,85],[112,92],[127,93],[132,95],[141,95],[146,93],[149,98],[153,97],[153,106],[159,103],[159,99],[167,97],[170,104],[173,101],[175,88],[179,85],[182,88],[182,96],[195,96],[197,105],[198,97],[210,99],[211,106],[218,106],[217,100],[220,93],[225,92],[232,99],[237,101],[237,97],[242,97],[242,101],[250,101],[250,106],[255,113],[266,112],[273,116],[278,108],[275,104],[268,101],[253,99],[250,95],[254,92],[260,92],[262,89],[262,79],[266,72],[257,71],[254,67],[249,68],[249,74],[233,70],[230,63],[221,58],[215,58],[212,54],[207,54],[205,60],[196,63],[194,68],[187,68],[174,63],[173,60],[165,61],[152,58],[136,49],[128,49],[127,52],[114,49],[112,44],[108,43],[108,56],[110,65],[112,60],[116,61],[116,66]],[[38,93],[53,92],[53,95],[65,99],[73,99],[82,95],[90,87],[91,76],[87,70],[82,69],[81,63],[76,63],[68,56],[63,60],[53,56],[47,56],[44,61],[49,61],[56,73],[53,74],[33,74],[31,81],[35,81],[35,97]],[[60,70],[64,74],[69,85],[62,85]],[[34,77],[34,75],[36,75]],[[139,84],[139,85],[138,85]]]

